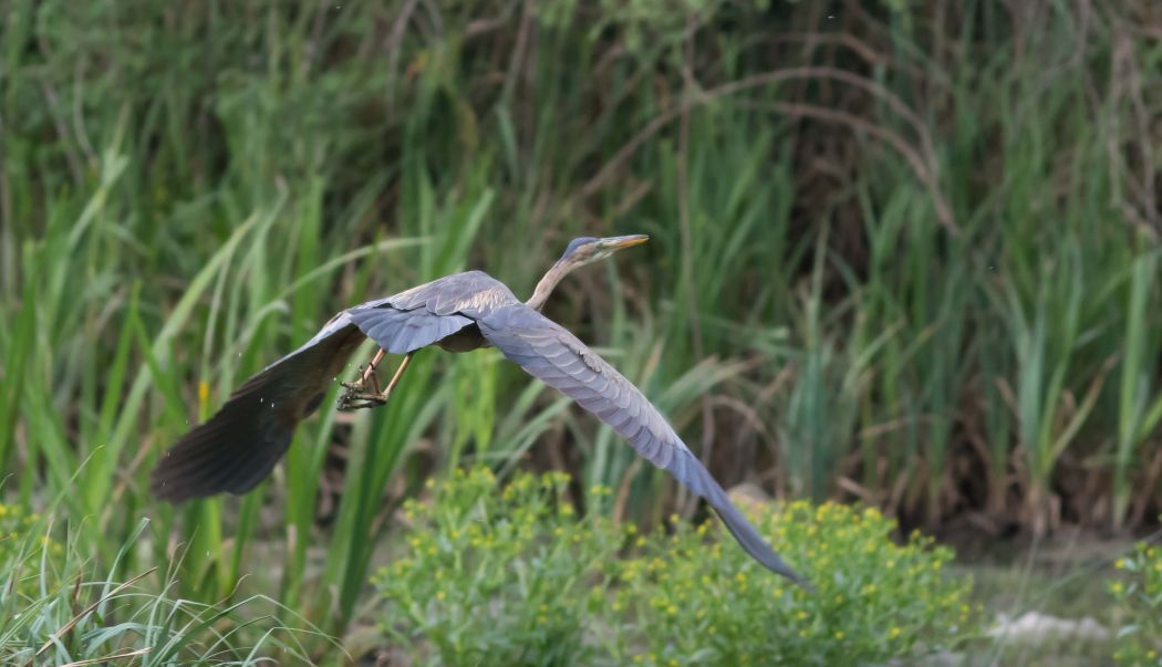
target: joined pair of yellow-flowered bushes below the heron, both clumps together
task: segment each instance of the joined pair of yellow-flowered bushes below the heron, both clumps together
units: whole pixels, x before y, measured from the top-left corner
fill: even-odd
[[[930,652],[968,634],[969,582],[945,547],[874,509],[754,508],[817,587],[752,561],[716,522],[637,535],[579,518],[568,478],[458,472],[406,507],[407,553],[374,582],[382,626],[422,664],[842,665]],[[627,552],[617,558],[619,551]]]

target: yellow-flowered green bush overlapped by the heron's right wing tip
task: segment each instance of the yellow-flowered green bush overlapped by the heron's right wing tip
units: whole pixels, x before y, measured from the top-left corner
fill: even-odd
[[[816,591],[772,576],[717,522],[675,522],[674,535],[651,536],[637,558],[618,564],[621,658],[644,651],[634,662],[876,664],[948,648],[975,632],[970,581],[944,571],[952,551],[918,535],[895,544],[895,522],[875,509],[796,501],[751,516]]]

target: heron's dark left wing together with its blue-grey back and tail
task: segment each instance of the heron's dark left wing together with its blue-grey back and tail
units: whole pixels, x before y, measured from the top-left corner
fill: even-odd
[[[510,301],[516,297],[508,287],[468,271],[339,311],[170,447],[153,468],[150,488],[170,502],[249,492],[282,458],[295,426],[318,408],[365,336],[403,354],[438,343],[469,327],[472,316]]]

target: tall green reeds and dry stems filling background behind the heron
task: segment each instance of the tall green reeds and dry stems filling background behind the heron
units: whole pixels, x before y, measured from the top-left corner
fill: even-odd
[[[587,234],[652,241],[548,314],[726,486],[940,535],[1162,511],[1156,2],[0,16],[0,493],[110,576],[232,600],[263,562],[261,590],[342,632],[394,508],[469,460],[569,471],[616,518],[696,515],[492,352],[421,354],[387,408],[323,411],[241,501],[146,494],[168,444],[333,311],[469,267],[528,293]]]

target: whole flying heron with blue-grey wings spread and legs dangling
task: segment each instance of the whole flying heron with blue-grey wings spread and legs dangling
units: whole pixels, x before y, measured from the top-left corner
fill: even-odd
[[[487,273],[467,271],[340,310],[310,340],[246,380],[214,416],[166,451],[151,473],[151,492],[162,501],[178,503],[220,493],[242,495],[254,488],[366,338],[379,350],[353,381],[342,383],[346,390],[338,400],[340,410],[386,403],[423,347],[437,345],[450,352],[495,347],[612,426],[641,457],[703,497],[759,564],[810,588],[731,502],[658,408],[576,336],[541,314],[566,274],[647,239],[646,235],[573,239],[528,301]],[[387,353],[403,358],[380,389],[375,368]]]

